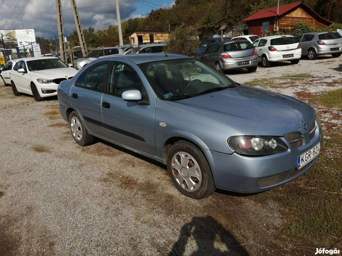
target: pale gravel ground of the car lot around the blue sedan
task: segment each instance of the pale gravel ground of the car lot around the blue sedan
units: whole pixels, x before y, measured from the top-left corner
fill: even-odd
[[[323,84],[341,79],[341,59],[228,76],[311,73],[317,91],[336,89]],[[0,84],[0,255],[280,255],[276,202],[222,190],[187,198],[154,160],[104,141],[76,144],[57,105]]]

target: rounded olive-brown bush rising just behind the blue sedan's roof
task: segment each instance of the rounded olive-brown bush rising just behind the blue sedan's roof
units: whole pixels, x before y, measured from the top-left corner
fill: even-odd
[[[198,47],[197,33],[192,26],[184,24],[175,28],[169,37],[169,42],[164,46],[164,52],[190,56]]]

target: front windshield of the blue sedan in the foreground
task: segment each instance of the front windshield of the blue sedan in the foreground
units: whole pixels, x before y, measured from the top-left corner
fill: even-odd
[[[177,100],[235,87],[227,76],[196,59],[173,59],[139,65],[159,98]]]

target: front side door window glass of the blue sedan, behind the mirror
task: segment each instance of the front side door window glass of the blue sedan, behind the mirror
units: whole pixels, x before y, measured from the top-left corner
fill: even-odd
[[[109,74],[109,93],[121,96],[124,91],[142,91],[138,74],[127,64],[114,62]]]

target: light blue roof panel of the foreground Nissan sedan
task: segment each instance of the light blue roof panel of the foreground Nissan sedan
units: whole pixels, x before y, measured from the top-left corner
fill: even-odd
[[[170,60],[170,59],[184,59],[188,58],[188,56],[180,55],[180,54],[170,54],[170,53],[141,53],[141,54],[129,54],[129,55],[116,55],[113,57],[105,57],[101,58],[101,60],[105,59],[127,59],[135,64],[141,64],[146,62],[160,61],[160,60]]]

